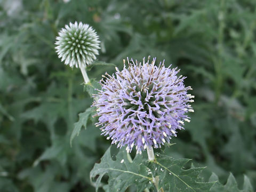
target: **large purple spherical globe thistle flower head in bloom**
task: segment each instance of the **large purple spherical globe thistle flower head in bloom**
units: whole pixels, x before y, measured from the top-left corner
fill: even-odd
[[[150,57],[149,57],[150,58]],[[127,153],[135,146],[137,153],[147,146],[161,147],[177,137],[177,129],[183,129],[185,115],[194,112],[188,102],[194,102],[194,95],[187,94],[191,87],[185,87],[186,77],[177,76],[179,70],[171,69],[160,62],[155,66],[143,59],[143,64],[127,58],[129,66],[115,75],[106,73],[100,81],[99,93],[93,97],[97,107],[103,135],[112,140],[117,147],[127,145]]]

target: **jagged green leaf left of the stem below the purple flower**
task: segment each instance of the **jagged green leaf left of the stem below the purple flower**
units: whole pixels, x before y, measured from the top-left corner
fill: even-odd
[[[96,191],[101,186],[101,179],[105,174],[109,177],[108,191],[122,192],[134,184],[137,186],[137,191],[143,191],[147,187],[153,187],[150,171],[142,164],[142,155],[135,156],[131,163],[127,158],[125,149],[120,149],[116,155],[116,160],[113,161],[110,148],[108,148],[101,158],[101,162],[94,165],[90,173],[91,180],[96,178]]]

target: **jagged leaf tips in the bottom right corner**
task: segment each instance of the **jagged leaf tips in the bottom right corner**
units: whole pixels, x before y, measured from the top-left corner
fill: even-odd
[[[222,185],[219,182],[218,176],[215,173],[212,173],[209,181],[210,182],[215,181],[214,185],[212,186],[212,188],[210,190],[213,192],[219,192],[219,191],[223,191],[223,192],[253,192],[250,180],[246,176],[244,176],[243,190],[238,189],[236,179],[234,178],[234,175],[232,173],[229,174],[226,185]]]

